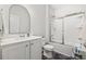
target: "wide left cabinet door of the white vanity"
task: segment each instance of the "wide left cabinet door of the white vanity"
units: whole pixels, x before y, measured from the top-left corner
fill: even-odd
[[[26,44],[16,43],[16,44],[3,47],[2,59],[3,60],[25,60]]]

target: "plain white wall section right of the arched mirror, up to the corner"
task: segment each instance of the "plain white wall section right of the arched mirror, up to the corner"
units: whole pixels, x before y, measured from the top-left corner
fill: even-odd
[[[46,35],[46,5],[25,5],[30,14],[30,28],[34,35]]]

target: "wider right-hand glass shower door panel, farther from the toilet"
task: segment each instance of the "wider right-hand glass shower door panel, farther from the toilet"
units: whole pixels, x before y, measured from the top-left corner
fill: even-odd
[[[79,37],[79,24],[82,23],[82,16],[74,15],[64,18],[64,43],[74,46],[81,43]]]

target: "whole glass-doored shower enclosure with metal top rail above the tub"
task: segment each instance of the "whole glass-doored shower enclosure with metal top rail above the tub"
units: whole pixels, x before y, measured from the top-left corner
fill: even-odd
[[[67,46],[82,43],[84,17],[85,12],[71,13],[61,17],[52,16],[52,21],[50,22],[50,40]]]

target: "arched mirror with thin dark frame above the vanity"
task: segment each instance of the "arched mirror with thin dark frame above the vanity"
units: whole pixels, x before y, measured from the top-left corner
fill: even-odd
[[[20,4],[13,4],[9,10],[9,33],[28,34],[30,16],[26,8]]]

